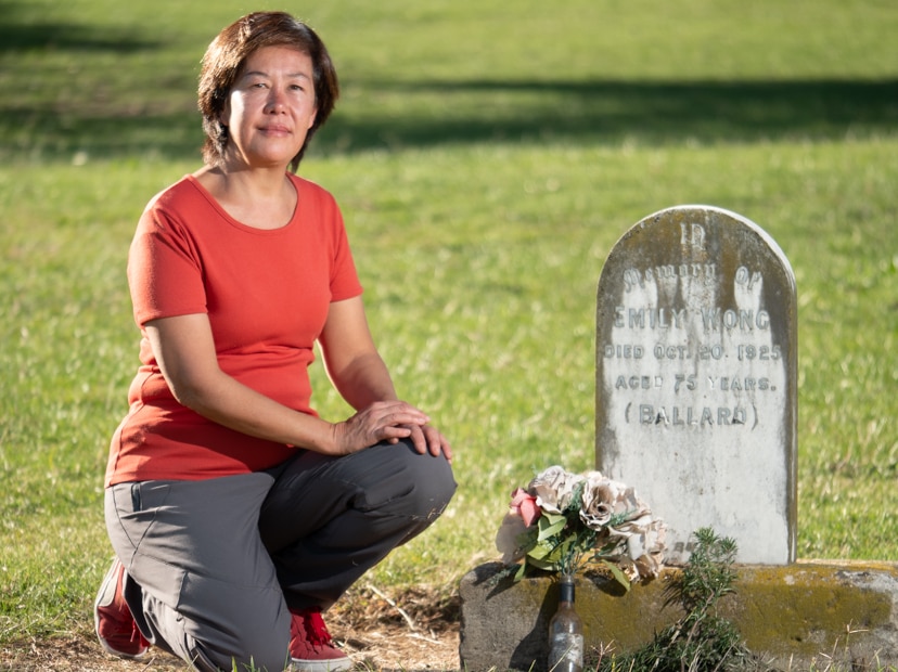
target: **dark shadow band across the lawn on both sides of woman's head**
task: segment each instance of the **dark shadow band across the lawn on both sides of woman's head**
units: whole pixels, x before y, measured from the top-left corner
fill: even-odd
[[[351,85],[350,85],[351,86]],[[347,87],[348,89],[349,87]],[[316,139],[319,153],[488,142],[664,145],[843,139],[898,129],[898,80],[742,82],[367,83],[365,101],[393,95],[405,112],[337,112]],[[415,104],[426,99],[426,104]],[[190,109],[185,99],[183,108]],[[361,106],[364,103],[357,103]],[[152,101],[146,101],[152,108]],[[394,105],[394,107],[396,107]],[[13,154],[196,158],[196,113],[108,114],[0,104],[0,138]],[[447,111],[448,114],[442,114]]]

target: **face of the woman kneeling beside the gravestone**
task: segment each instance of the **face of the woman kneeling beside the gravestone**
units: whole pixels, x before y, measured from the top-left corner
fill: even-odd
[[[221,115],[226,166],[285,168],[303,147],[316,112],[311,57],[290,47],[257,49]]]

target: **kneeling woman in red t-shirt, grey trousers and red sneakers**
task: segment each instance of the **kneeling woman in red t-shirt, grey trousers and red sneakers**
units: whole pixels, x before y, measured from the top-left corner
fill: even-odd
[[[112,654],[346,669],[321,613],[454,492],[449,443],[374,346],[333,197],[294,175],[336,98],[324,44],[287,14],[249,14],[206,52],[205,165],[151,201],[128,260],[141,366],[94,610]],[[316,344],[356,410],[343,422],[310,406]]]

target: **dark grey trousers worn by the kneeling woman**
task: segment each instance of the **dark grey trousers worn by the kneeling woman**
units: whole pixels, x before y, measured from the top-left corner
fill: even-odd
[[[302,452],[267,471],[113,486],[106,528],[151,643],[201,672],[275,672],[288,661],[288,608],[329,608],[454,490],[442,456],[405,442]]]

